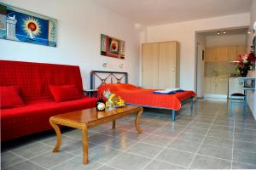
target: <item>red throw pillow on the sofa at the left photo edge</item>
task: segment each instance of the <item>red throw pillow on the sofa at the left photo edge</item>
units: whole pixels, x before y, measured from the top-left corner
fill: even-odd
[[[20,88],[17,86],[0,87],[0,100],[1,109],[24,106],[24,102],[20,98]]]

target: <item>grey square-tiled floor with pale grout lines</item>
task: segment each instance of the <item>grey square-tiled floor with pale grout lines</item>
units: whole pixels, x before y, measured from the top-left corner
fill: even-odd
[[[90,129],[89,161],[82,164],[81,132],[65,129],[61,151],[52,153],[55,133],[39,133],[2,144],[2,169],[236,169],[256,168],[256,122],[241,108],[231,118],[226,101],[185,105],[176,122],[168,111],[146,110],[141,126],[134,116]]]

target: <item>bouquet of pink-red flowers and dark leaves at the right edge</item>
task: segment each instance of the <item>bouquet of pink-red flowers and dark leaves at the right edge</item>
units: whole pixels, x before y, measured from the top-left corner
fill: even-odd
[[[240,72],[241,77],[247,77],[248,71],[251,71],[255,63],[255,54],[238,55],[235,66],[236,71]]]

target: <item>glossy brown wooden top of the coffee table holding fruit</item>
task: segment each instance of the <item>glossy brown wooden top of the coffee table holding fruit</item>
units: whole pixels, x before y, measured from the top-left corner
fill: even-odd
[[[67,112],[61,115],[53,116],[55,119],[68,120],[77,123],[88,123],[114,116],[124,112],[136,112],[140,107],[136,105],[125,105],[119,108],[106,109],[106,111],[96,111],[96,108],[85,109],[80,111]]]

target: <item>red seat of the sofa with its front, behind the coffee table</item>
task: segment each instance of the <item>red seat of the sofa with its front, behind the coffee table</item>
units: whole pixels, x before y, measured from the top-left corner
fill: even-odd
[[[96,98],[83,96],[82,99],[55,102],[53,99],[28,101],[26,106],[1,110],[2,140],[52,129],[49,117],[69,111],[95,107]]]

